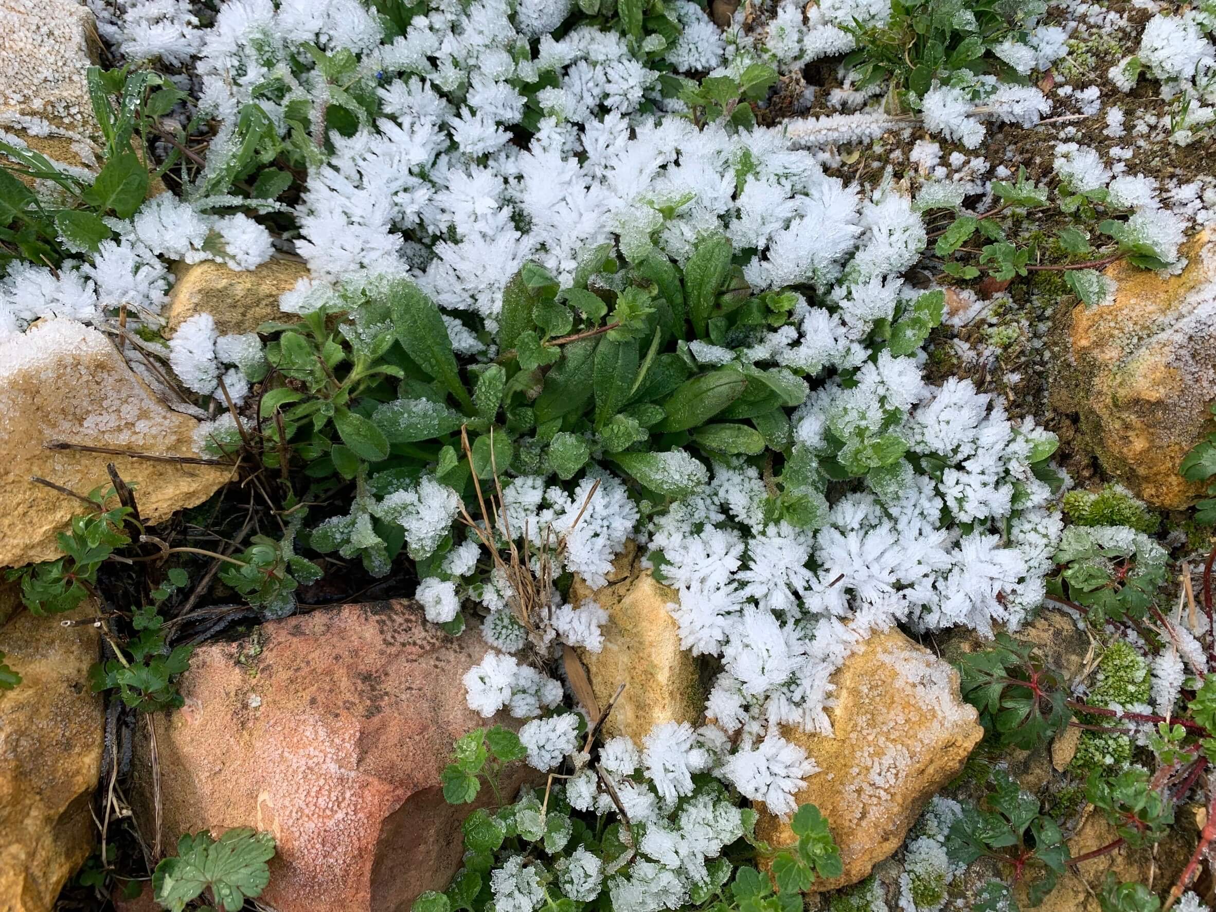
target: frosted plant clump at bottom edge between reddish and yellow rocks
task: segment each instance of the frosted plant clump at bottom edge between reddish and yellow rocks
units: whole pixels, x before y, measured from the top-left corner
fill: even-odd
[[[586,737],[580,716],[551,719],[576,721],[570,731],[580,743]],[[666,748],[659,739],[652,747],[659,743]],[[778,912],[815,879],[841,871],[827,821],[814,805],[804,805],[790,821],[794,845],[769,850],[753,837],[756,812],[739,807],[736,794],[698,776],[679,799],[668,796],[669,764],[651,756],[649,748],[638,751],[627,738],[608,741],[593,759],[582,754],[573,775],[551,777],[545,789],[525,788],[505,804],[497,786],[503,765],[525,755],[531,762],[537,747],[528,726],[519,736],[495,727],[457,741],[455,762],[444,772],[445,795],[455,803],[471,801],[482,777],[500,806],[478,809],[466,818],[463,868],[444,893],[420,896],[415,912],[480,912],[490,903],[520,912],[584,903],[621,912],[685,907]],[[703,742],[700,762],[714,762],[720,749],[719,743]],[[732,858],[741,848],[748,854],[759,849],[769,857],[777,894],[755,868],[736,867]]]

